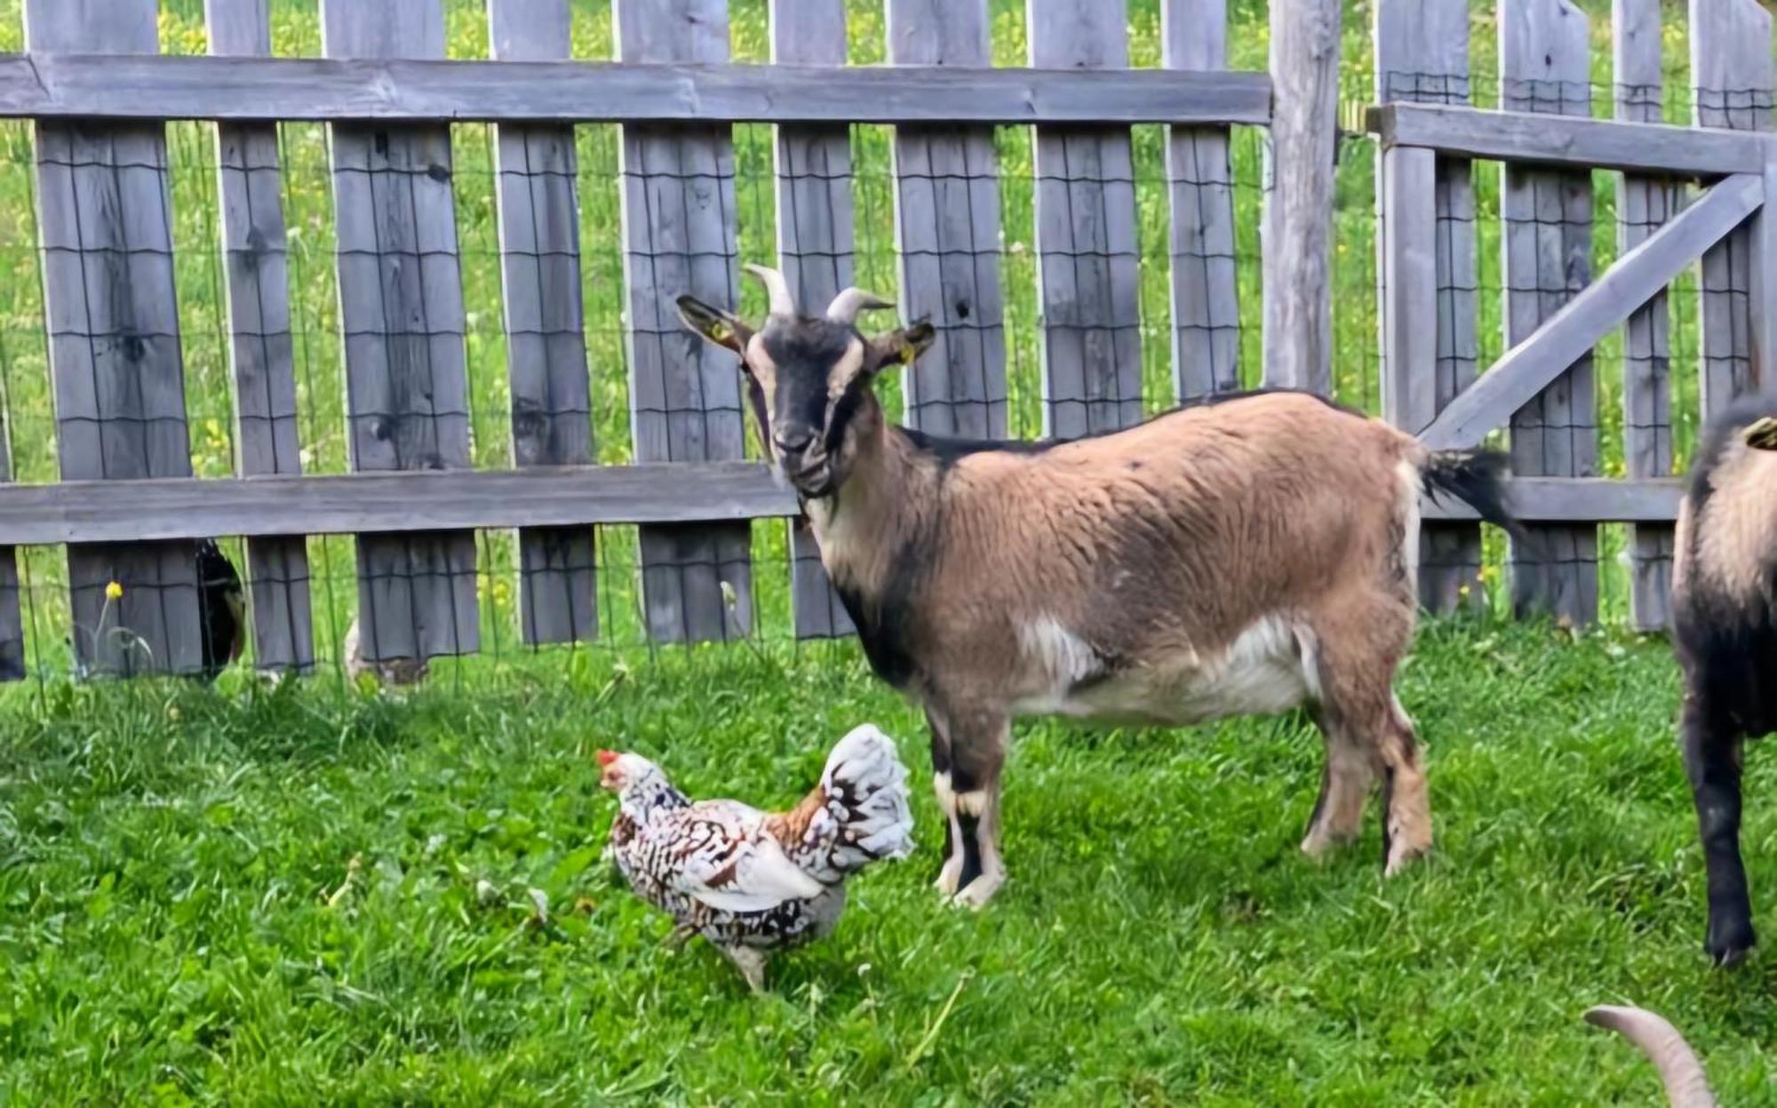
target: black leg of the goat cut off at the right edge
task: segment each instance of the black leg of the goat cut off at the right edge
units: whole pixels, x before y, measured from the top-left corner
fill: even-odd
[[[1704,950],[1733,966],[1757,941],[1752,895],[1740,859],[1740,732],[1718,719],[1699,696],[1685,698],[1685,772],[1697,801],[1697,833],[1709,884],[1709,932]]]

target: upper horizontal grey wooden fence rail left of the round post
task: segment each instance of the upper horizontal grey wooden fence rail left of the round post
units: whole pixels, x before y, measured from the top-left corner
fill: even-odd
[[[0,117],[1265,126],[1271,78],[1183,69],[27,53],[0,57]]]

